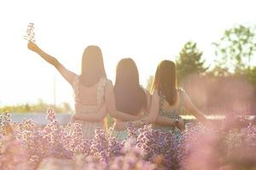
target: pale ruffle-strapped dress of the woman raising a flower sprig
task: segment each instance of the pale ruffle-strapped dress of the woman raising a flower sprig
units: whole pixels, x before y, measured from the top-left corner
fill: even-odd
[[[97,83],[96,105],[83,105],[79,97],[79,76],[75,77],[73,81],[73,92],[76,113],[97,114],[98,111],[100,111],[104,103],[104,94],[107,81],[108,80],[106,78],[101,78],[100,81]],[[82,125],[84,139],[93,139],[96,128],[106,129],[106,124],[104,122],[85,122],[80,120],[76,120],[75,122],[79,122]]]

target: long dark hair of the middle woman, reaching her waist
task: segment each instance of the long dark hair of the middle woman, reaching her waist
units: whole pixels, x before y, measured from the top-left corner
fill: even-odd
[[[117,65],[113,93],[118,111],[136,115],[147,108],[147,96],[140,86],[137,65],[133,59],[121,59]]]

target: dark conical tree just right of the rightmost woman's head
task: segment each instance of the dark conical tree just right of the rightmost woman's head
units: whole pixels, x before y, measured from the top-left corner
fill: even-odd
[[[200,74],[207,71],[204,66],[205,60],[201,59],[202,52],[197,48],[195,42],[187,42],[178,55],[177,80],[182,82],[191,74]]]

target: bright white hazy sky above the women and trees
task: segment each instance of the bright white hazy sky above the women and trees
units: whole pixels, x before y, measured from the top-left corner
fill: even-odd
[[[0,1],[0,105],[43,99],[73,104],[72,88],[57,71],[26,48],[22,39],[29,22],[36,41],[68,69],[79,73],[84,48],[102,48],[108,77],[114,81],[119,59],[137,62],[145,86],[161,59],[175,59],[183,44],[198,42],[207,63],[211,43],[225,29],[256,24],[256,3],[251,0],[179,1]]]

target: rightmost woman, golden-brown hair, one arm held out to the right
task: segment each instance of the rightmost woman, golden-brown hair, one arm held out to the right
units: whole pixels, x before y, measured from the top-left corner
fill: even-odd
[[[151,104],[148,116],[134,122],[140,126],[141,122],[153,123],[154,128],[162,131],[183,130],[184,123],[180,116],[186,109],[200,122],[210,124],[206,117],[189,99],[182,88],[177,88],[176,65],[170,60],[163,60],[157,67],[151,88]],[[123,129],[125,123],[117,123],[117,129]]]

